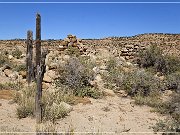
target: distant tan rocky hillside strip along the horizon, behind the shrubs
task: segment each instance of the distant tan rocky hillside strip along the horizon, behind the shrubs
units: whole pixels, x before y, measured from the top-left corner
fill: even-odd
[[[70,35],[69,35],[70,36]],[[123,56],[126,60],[134,59],[139,49],[145,49],[149,45],[155,44],[161,47],[164,53],[180,55],[180,34],[140,34],[132,37],[109,37],[103,39],[76,39],[71,37],[73,42],[67,38],[64,40],[44,40],[42,45],[49,50],[64,50],[63,47],[68,42],[72,45],[84,45],[87,49],[85,55],[95,54],[98,49],[105,48],[114,56]],[[18,47],[25,48],[25,40],[1,40],[0,49],[13,50]],[[25,51],[25,50],[24,50]]]

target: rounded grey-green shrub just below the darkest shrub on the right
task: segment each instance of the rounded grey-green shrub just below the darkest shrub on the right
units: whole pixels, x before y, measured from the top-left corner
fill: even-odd
[[[157,94],[164,88],[163,83],[158,78],[144,70],[125,73],[122,78],[122,88],[131,96],[136,94],[143,97],[149,96],[150,94]]]

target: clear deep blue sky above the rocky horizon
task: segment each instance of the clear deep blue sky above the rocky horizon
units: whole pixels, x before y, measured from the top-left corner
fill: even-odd
[[[2,2],[3,0],[0,1]],[[13,1],[13,0],[9,0],[9,1]],[[17,0],[17,1],[21,1],[21,0]],[[69,0],[69,1],[73,1],[73,0]],[[107,1],[107,0],[99,0],[99,1]],[[118,0],[113,0],[113,1],[118,1]],[[133,0],[129,0],[129,1],[133,1]],[[161,1],[166,1],[166,0],[159,0],[159,2]],[[177,2],[178,0],[173,0],[173,1]],[[0,18],[1,18],[0,39],[26,38],[26,32],[29,29],[33,30],[35,34],[36,12],[39,12],[42,17],[42,39],[63,39],[66,37],[67,34],[70,33],[77,35],[77,37],[79,38],[133,36],[136,34],[154,33],[154,32],[180,33],[180,3],[179,4],[172,4],[172,3],[171,4],[162,4],[162,3],[161,4],[2,4],[1,3],[0,4]]]

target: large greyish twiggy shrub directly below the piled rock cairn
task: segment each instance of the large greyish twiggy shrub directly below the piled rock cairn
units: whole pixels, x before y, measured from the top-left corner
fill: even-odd
[[[56,80],[57,87],[67,87],[74,95],[97,97],[97,90],[90,88],[94,73],[87,65],[83,65],[76,57],[69,59],[59,70],[60,77]],[[92,94],[94,92],[94,94]]]

